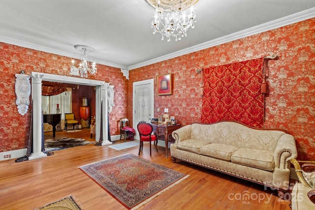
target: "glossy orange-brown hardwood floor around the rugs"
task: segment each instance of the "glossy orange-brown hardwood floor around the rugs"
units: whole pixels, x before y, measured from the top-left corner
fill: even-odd
[[[56,138],[61,137],[95,141],[95,135],[90,139],[89,129],[56,132]],[[52,134],[45,133],[46,138],[52,138]],[[0,209],[33,210],[72,195],[85,210],[126,210],[78,167],[121,154],[138,155],[138,150],[134,147],[117,151],[91,144],[55,151],[52,156],[36,160],[1,161]],[[289,202],[279,199],[276,191],[189,163],[172,163],[170,157],[165,158],[164,148],[152,150],[150,157],[145,145],[140,156],[190,176],[139,210],[290,210]],[[246,194],[249,200],[245,200]]]

